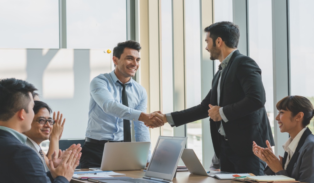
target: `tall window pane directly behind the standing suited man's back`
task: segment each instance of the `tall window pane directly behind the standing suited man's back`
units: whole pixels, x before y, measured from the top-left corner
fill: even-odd
[[[249,1],[249,56],[262,69],[266,112],[274,132],[271,0]]]

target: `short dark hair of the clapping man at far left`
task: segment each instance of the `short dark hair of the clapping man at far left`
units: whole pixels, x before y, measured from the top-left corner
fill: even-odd
[[[35,86],[26,81],[8,78],[0,80],[0,120],[8,121],[16,112],[24,109],[28,113],[30,93],[33,93]]]

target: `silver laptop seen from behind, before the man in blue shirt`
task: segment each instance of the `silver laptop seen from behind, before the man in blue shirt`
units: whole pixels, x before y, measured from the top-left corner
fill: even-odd
[[[108,142],[100,170],[142,170],[146,167],[150,142]]]

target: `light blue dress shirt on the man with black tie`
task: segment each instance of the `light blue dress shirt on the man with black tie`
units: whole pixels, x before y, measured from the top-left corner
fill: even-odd
[[[135,140],[150,142],[149,128],[138,121],[140,114],[146,113],[146,90],[132,78],[125,83],[127,107],[122,104],[122,86],[117,81],[119,79],[113,70],[98,75],[90,82],[89,118],[85,136],[96,140],[123,140],[123,119],[128,119],[134,123]],[[151,149],[148,161],[150,157]]]

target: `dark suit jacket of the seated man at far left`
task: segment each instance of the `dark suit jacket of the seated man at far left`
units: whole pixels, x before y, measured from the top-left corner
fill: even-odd
[[[0,183],[69,182],[63,176],[53,180],[36,152],[11,133],[0,130],[0,144]]]

